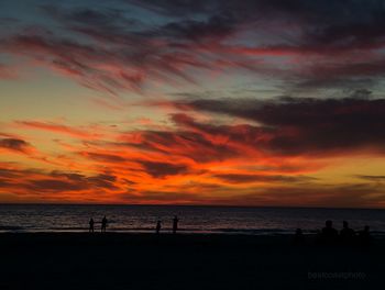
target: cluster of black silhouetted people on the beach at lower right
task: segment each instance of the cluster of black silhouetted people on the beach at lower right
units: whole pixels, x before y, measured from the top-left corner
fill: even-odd
[[[297,228],[294,237],[295,244],[302,244],[305,241],[302,230]],[[367,225],[364,226],[363,231],[359,231],[358,233],[349,227],[349,223],[346,221],[342,222],[342,230],[338,232],[333,227],[333,222],[328,220],[324,223],[324,227],[318,232],[317,242],[320,244],[342,244],[342,245],[353,245],[360,244],[367,246],[371,241],[370,227]]]

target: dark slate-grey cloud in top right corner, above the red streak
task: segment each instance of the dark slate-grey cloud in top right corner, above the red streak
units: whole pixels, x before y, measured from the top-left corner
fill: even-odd
[[[383,44],[384,1],[283,1],[283,0],[211,0],[211,1],[132,1],[153,11],[173,16],[206,15],[231,19],[233,23],[280,23],[299,30],[299,37],[290,44],[272,45],[272,48],[290,48],[301,52],[330,53],[340,49],[373,47]],[[293,25],[296,24],[296,25]],[[267,27],[268,29],[268,27]],[[199,31],[199,27],[197,27]]]

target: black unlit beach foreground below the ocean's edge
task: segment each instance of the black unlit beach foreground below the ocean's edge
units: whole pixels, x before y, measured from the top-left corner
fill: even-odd
[[[383,289],[385,241],[150,234],[0,234],[0,289]]]

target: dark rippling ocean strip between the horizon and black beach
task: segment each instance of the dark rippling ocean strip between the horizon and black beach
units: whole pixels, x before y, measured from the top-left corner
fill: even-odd
[[[345,220],[356,231],[370,225],[373,234],[385,234],[385,210],[375,209],[79,204],[0,204],[0,232],[86,232],[90,217],[98,231],[103,215],[109,232],[152,233],[157,220],[162,232],[170,232],[177,215],[180,233],[278,235],[297,227],[316,233],[326,220],[338,230]]]

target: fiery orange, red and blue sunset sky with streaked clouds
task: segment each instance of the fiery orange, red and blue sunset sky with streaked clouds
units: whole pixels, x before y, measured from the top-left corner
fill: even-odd
[[[385,208],[385,1],[1,0],[0,202]]]

